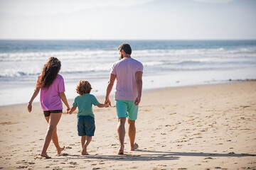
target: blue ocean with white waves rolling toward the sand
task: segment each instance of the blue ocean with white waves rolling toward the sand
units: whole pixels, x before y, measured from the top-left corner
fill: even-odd
[[[0,40],[0,106],[28,103],[49,57],[62,63],[68,99],[78,95],[80,79],[90,81],[91,94],[105,96],[123,42],[144,64],[144,91],[256,79],[256,40]]]

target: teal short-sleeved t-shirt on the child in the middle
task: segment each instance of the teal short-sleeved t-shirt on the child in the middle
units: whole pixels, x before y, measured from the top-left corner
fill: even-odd
[[[99,101],[92,94],[83,94],[82,96],[77,96],[73,103],[73,106],[78,107],[78,116],[79,115],[90,115],[92,118],[95,118],[95,115],[92,111],[92,104],[94,106],[99,105]]]

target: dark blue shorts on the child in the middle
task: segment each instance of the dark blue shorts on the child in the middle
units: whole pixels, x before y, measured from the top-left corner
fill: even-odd
[[[90,115],[78,116],[78,136],[94,136],[95,120]]]

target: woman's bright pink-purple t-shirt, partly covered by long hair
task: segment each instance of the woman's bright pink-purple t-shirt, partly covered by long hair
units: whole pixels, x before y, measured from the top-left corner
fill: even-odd
[[[65,91],[64,79],[58,74],[48,89],[41,88],[40,103],[43,111],[63,110],[63,103],[59,94],[63,91]]]

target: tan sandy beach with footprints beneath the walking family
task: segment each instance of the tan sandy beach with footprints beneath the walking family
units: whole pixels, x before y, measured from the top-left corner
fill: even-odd
[[[76,113],[63,113],[58,137],[65,150],[57,155],[51,142],[52,159],[44,159],[47,123],[39,104],[31,113],[26,105],[1,107],[0,169],[256,169],[256,81],[144,92],[139,149],[129,151],[126,135],[124,155],[117,155],[115,108],[93,109],[90,155],[80,153]]]

